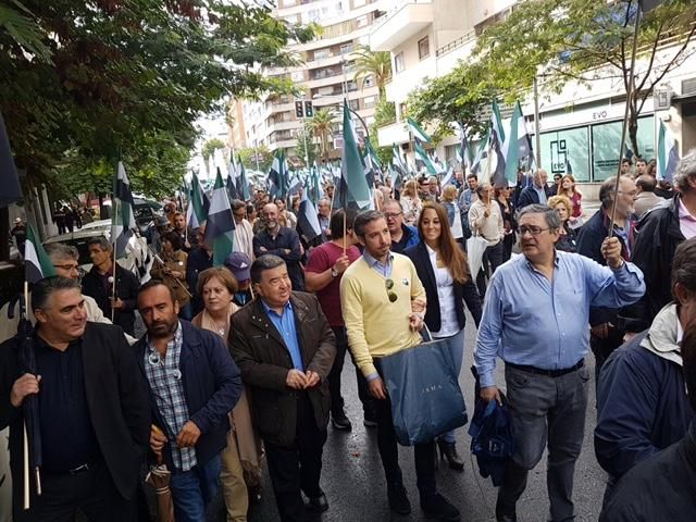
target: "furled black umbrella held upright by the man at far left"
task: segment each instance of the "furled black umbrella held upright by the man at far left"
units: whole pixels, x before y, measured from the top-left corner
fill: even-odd
[[[25,294],[26,295],[26,294]],[[34,351],[34,339],[32,323],[26,319],[26,298],[22,296],[21,299],[21,319],[17,326],[17,340],[21,343],[20,349],[20,363],[24,373],[37,374],[36,368],[36,353]],[[25,428],[25,477],[24,485],[26,490],[24,492],[24,509],[29,508],[28,502],[28,471],[30,467],[34,470],[34,477],[36,480],[36,494],[41,495],[41,476],[40,468],[42,465],[41,456],[41,426],[39,424],[39,401],[38,396],[35,394],[27,395],[22,402],[22,410],[24,413],[24,428]],[[27,462],[28,461],[28,462]],[[26,465],[28,463],[28,467]]]

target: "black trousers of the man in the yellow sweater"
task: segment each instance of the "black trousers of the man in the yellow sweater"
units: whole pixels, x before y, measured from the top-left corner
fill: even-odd
[[[380,360],[375,359],[374,363],[380,376],[382,376]],[[374,402],[377,414],[377,449],[382,458],[387,487],[401,485],[403,477],[399,467],[399,448],[391,419],[391,400],[387,396],[385,400],[375,399]],[[421,498],[435,495],[437,493],[435,440],[413,446],[413,457],[415,459],[415,483]]]

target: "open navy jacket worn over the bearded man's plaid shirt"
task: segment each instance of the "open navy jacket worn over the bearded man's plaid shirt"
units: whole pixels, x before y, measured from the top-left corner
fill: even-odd
[[[203,463],[217,455],[227,445],[229,420],[227,413],[237,403],[241,395],[239,369],[223,340],[212,332],[200,330],[188,321],[181,321],[184,333],[184,346],[179,358],[179,370],[184,382],[184,396],[188,406],[189,419],[201,432],[196,443],[196,459]],[[145,353],[147,338],[144,336],[134,345],[140,371],[145,373]],[[150,403],[152,419],[164,433],[164,420],[157,409],[152,389]],[[170,444],[176,444],[174,440]],[[174,469],[171,452],[163,452],[166,465]]]

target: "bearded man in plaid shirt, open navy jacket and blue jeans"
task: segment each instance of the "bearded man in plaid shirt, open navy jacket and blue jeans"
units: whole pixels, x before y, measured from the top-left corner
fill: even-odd
[[[204,521],[220,487],[220,452],[227,445],[241,378],[221,338],[177,316],[178,303],[161,281],[138,294],[147,334],[135,345],[150,389],[150,449],[172,472],[178,521]]]

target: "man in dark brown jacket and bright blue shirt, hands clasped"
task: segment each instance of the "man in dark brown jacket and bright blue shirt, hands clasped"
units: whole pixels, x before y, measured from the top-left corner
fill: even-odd
[[[257,299],[232,316],[229,346],[250,388],[282,522],[306,522],[301,490],[315,512],[328,509],[320,487],[336,341],[316,298],[295,293],[285,262],[251,265]]]

